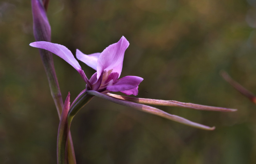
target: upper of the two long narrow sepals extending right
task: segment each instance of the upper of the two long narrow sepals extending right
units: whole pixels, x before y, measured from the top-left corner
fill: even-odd
[[[149,99],[149,98],[134,98],[134,97],[120,96],[117,94],[110,94],[110,93],[107,93],[107,95],[114,97],[114,98],[121,99],[121,100],[136,102],[136,103],[140,103],[140,104],[147,104],[147,105],[176,106],[176,107],[190,108],[190,109],[196,109],[196,110],[208,110],[208,111],[218,111],[218,112],[237,111],[236,109],[178,102],[178,101],[174,101],[174,100],[156,100],[156,99]]]

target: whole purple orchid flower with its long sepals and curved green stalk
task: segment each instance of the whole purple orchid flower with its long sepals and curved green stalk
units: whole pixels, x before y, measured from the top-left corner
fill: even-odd
[[[236,109],[204,106],[192,103],[183,103],[177,101],[168,100],[155,100],[155,99],[143,99],[143,98],[130,98],[125,96],[119,96],[115,94],[109,94],[109,92],[122,92],[124,94],[137,95],[138,85],[142,82],[143,78],[137,76],[125,76],[120,78],[122,72],[122,64],[124,52],[129,46],[129,42],[125,37],[122,37],[117,43],[114,43],[101,53],[94,53],[90,55],[83,54],[80,50],[76,50],[76,57],[92,67],[97,72],[92,75],[90,80],[86,77],[81,66],[72,55],[71,51],[65,46],[54,44],[50,42],[33,42],[30,46],[42,48],[63,58],[71,66],[73,66],[86,82],[86,88],[83,90],[73,101],[68,112],[68,122],[71,123],[76,113],[88,103],[93,96],[107,99],[109,101],[121,104],[124,106],[130,106],[138,110],[142,110],[147,113],[155,114],[176,122],[183,123],[185,125],[201,128],[204,130],[213,130],[215,127],[204,126],[196,122],[191,122],[180,116],[166,113],[158,108],[147,106],[148,105],[163,105],[163,106],[179,106],[185,108],[192,108],[197,110],[211,110],[211,111],[224,111],[231,112]]]

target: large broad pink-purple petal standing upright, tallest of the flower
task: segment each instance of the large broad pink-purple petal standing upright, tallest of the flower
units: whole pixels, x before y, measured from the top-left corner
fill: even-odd
[[[101,73],[106,70],[112,70],[117,72],[120,77],[123,67],[124,53],[129,42],[124,36],[114,44],[111,44],[105,50],[101,52],[97,62],[97,79],[99,79]]]

